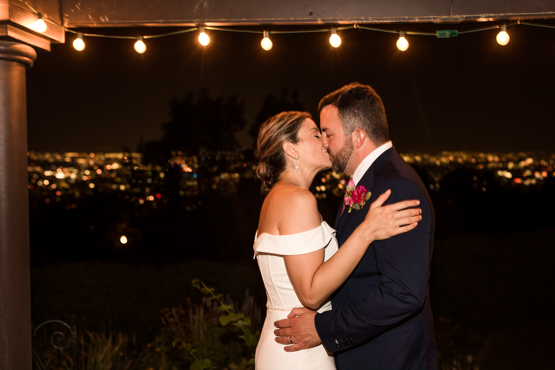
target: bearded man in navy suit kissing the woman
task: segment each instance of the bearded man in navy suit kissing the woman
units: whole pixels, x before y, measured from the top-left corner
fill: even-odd
[[[434,216],[426,187],[393,148],[384,104],[370,86],[346,85],[326,95],[318,111],[334,170],[352,174],[350,185],[364,185],[372,193],[370,202],[387,189],[385,205],[419,199],[422,220],[411,231],[372,243],[334,293],[331,311],[294,308],[289,318],[276,321],[276,342],[296,343],[285,347],[287,352],[324,343],[339,370],[436,370],[428,295]],[[349,213],[340,206],[335,222],[340,246],[369,209]]]

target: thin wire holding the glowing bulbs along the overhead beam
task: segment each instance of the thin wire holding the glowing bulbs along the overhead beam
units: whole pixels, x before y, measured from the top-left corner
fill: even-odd
[[[31,7],[31,5],[29,5],[27,3],[27,0],[17,0],[18,2],[23,3],[24,5],[26,5],[29,9],[31,9],[31,11],[35,14],[35,15],[39,15],[39,12],[36,11],[36,9],[34,9],[33,7]],[[43,18],[43,20],[45,22],[48,22],[50,24],[52,24],[53,26],[56,26],[60,29],[63,29],[65,32],[70,32],[70,33],[74,33],[74,34],[80,34],[82,36],[86,36],[86,37],[104,37],[104,38],[113,38],[113,39],[127,39],[127,40],[137,40],[137,36],[115,36],[115,35],[104,35],[104,34],[97,34],[97,33],[82,33],[82,32],[78,32],[78,31],[73,31],[73,29],[69,29],[67,27],[64,27],[56,22],[51,21],[51,19],[48,18]],[[516,22],[511,22],[511,23],[507,23],[504,26],[505,27],[510,27],[510,26],[514,26],[515,24],[523,24],[524,26],[533,26],[533,27],[544,27],[544,28],[555,28],[555,26],[551,26],[549,24],[541,24],[541,23],[532,23],[532,22],[523,22],[523,21],[516,21]],[[210,30],[214,30],[214,31],[228,31],[228,32],[245,32],[245,33],[259,33],[259,34],[263,34],[264,35],[264,31],[254,31],[254,30],[250,30],[250,29],[233,29],[233,28],[221,28],[221,27],[209,27],[209,26],[203,26],[203,27],[193,27],[193,28],[186,28],[186,29],[180,29],[179,31],[174,31],[174,32],[167,32],[167,33],[160,33],[160,34],[154,34],[154,35],[144,35],[142,36],[142,38],[144,39],[149,39],[149,38],[158,38],[158,37],[165,37],[165,36],[173,36],[173,35],[177,35],[177,34],[181,34],[181,33],[187,33],[187,32],[193,32],[193,31],[200,31],[201,28],[205,28],[205,29],[210,29]],[[359,24],[354,24],[353,26],[344,26],[344,27],[330,27],[330,28],[321,28],[321,29],[299,29],[299,30],[291,30],[291,31],[271,31],[270,33],[312,33],[312,32],[331,32],[332,29],[336,29],[337,31],[339,30],[344,30],[344,29],[366,29],[368,31],[377,31],[377,32],[387,32],[387,33],[396,33],[396,34],[400,34],[400,31],[395,31],[393,29],[384,29],[384,28],[375,28],[375,27],[366,27],[366,26],[360,26]],[[490,29],[499,29],[501,28],[501,26],[490,26],[490,27],[481,27],[481,28],[475,28],[475,29],[467,29],[465,31],[457,31],[457,30],[443,30],[443,31],[436,31],[436,32],[415,32],[415,31],[404,31],[405,34],[407,35],[418,35],[418,36],[436,36],[436,37],[440,37],[440,33],[443,32],[445,33],[445,31],[447,32],[452,32],[455,33],[453,36],[456,36],[457,34],[466,34],[466,33],[473,33],[473,32],[481,32],[481,31],[488,31]],[[453,37],[451,36],[451,37]]]

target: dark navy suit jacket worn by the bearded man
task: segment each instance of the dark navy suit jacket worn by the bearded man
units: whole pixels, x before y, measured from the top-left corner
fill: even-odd
[[[435,228],[433,207],[422,180],[387,149],[357,186],[372,192],[361,210],[340,206],[335,229],[341,246],[364,220],[371,202],[391,189],[385,205],[420,199],[422,220],[406,233],[370,245],[359,265],[332,298],[331,311],[315,317],[316,331],[339,370],[436,370],[437,348],[428,295]],[[355,341],[340,346],[337,343]]]

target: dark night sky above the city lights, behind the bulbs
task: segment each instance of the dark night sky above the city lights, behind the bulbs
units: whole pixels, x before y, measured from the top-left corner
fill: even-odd
[[[377,27],[434,32],[497,24],[502,22]],[[322,27],[250,27],[264,28]],[[80,31],[138,36],[177,29]],[[339,31],[338,49],[329,44],[329,33],[270,34],[269,52],[260,47],[261,34],[208,31],[211,43],[203,47],[198,33],[190,32],[147,39],[144,54],[135,52],[134,40],[90,37],[77,52],[68,33],[65,44],[40,53],[28,70],[29,150],[135,150],[140,138],[162,134],[172,97],[200,88],[212,97],[238,95],[251,124],[268,93],[298,89],[314,114],[325,94],[357,81],[381,95],[390,138],[400,151],[553,153],[555,29],[511,26],[506,46],[497,44],[498,32],[451,39],[409,35],[406,52],[396,48],[397,34],[366,30]],[[250,146],[244,131],[238,137]]]

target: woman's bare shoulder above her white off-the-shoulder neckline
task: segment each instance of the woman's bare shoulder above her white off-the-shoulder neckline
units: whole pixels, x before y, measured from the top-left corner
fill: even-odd
[[[321,224],[316,197],[308,189],[296,186],[280,186],[268,194],[266,210],[271,212],[280,235],[314,229]]]

